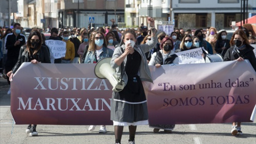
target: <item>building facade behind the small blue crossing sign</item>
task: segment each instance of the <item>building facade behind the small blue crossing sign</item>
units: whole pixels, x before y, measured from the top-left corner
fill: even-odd
[[[59,28],[102,27],[124,22],[123,0],[60,0]]]

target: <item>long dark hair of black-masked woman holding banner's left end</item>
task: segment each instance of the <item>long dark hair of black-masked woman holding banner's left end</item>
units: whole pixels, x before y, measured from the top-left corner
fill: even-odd
[[[39,42],[38,42],[37,47],[34,47],[34,53],[31,54],[30,48],[31,48],[32,45],[31,45],[30,40],[31,40],[31,38],[32,38],[33,36],[38,36],[38,37],[39,37]],[[26,48],[26,51],[29,52],[29,55],[34,55],[34,54],[36,54],[39,50],[41,50],[42,42],[43,42],[43,41],[42,41],[42,35],[41,35],[38,31],[31,31],[31,33],[30,33],[29,36],[28,36],[27,48]]]

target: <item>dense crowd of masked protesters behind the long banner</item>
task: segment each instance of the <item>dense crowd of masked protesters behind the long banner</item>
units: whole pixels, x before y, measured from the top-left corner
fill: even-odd
[[[151,21],[154,20],[151,19]],[[138,29],[127,28],[125,30],[119,30],[116,25],[97,28],[47,29],[47,32],[51,34],[49,39],[66,42],[66,55],[60,59],[54,59],[51,50],[45,45],[45,40],[47,39],[45,39],[42,29],[31,29],[27,39],[19,23],[15,23],[13,29],[0,27],[1,77],[6,78],[10,85],[13,74],[22,62],[97,63],[102,58],[112,57],[113,53],[115,55],[116,49],[122,53],[120,48],[122,46],[125,47],[124,50],[129,47],[129,50],[133,52],[133,47],[139,47],[139,45],[143,45],[142,48],[149,46],[153,37],[156,38],[154,46],[150,45],[151,47],[147,47],[149,51],[145,52],[147,65],[156,67],[168,64],[178,65],[179,62],[175,53],[202,47],[202,57],[204,58],[207,54],[219,54],[223,61],[249,59],[254,70],[256,70],[256,58],[253,53],[253,47],[250,46],[250,44],[255,44],[256,34],[251,25],[246,24],[242,29],[238,29],[231,39],[227,39],[227,31],[218,31],[213,27],[209,27],[206,30],[175,28],[170,35],[166,35],[164,31],[157,31],[153,34],[154,23],[150,21],[149,23],[152,25],[150,28],[142,23]],[[127,39],[124,39],[124,37]],[[129,41],[130,45],[126,44],[127,41]],[[130,57],[128,55],[129,53],[125,57]],[[138,53],[137,56],[138,59],[141,59]],[[118,57],[116,58],[118,59]],[[11,90],[7,94],[10,93]],[[172,132],[174,126],[174,124],[150,125],[150,127],[154,128],[154,132],[158,132],[161,129],[164,132]],[[94,129],[95,125],[89,127],[89,131]],[[121,131],[119,129],[117,128],[116,130]],[[36,125],[30,124],[26,132],[31,135],[37,135]],[[99,132],[106,133],[106,126],[101,125]],[[233,135],[242,135],[241,123],[234,122],[231,133]],[[118,134],[116,137],[118,137],[118,140],[121,139]],[[134,137],[132,137],[131,141],[134,141]],[[118,142],[116,141],[116,143]]]

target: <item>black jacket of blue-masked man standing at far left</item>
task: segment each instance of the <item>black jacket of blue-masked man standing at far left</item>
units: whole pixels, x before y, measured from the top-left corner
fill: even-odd
[[[16,41],[20,41],[19,45],[14,46],[14,43]],[[18,59],[19,57],[19,51],[20,47],[26,43],[25,36],[22,34],[19,34],[17,37],[14,35],[14,33],[6,35],[5,38],[5,46],[7,51],[7,57],[8,59]]]

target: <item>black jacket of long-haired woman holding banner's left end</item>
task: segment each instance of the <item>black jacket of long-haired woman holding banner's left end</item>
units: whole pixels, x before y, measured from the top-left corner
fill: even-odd
[[[23,62],[29,62],[29,52],[26,50],[26,47],[27,46],[24,45],[20,48],[19,59],[12,69],[13,74],[19,69]],[[37,61],[42,63],[51,63],[49,52],[45,46],[42,45],[41,50],[39,50],[36,55],[35,59]]]

